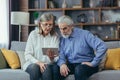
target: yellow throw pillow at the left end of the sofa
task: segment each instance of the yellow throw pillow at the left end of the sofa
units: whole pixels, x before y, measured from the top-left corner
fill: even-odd
[[[7,50],[7,49],[1,49],[5,59],[7,60],[9,66],[12,69],[16,69],[20,67],[20,61],[19,61],[19,57],[17,56],[17,54],[12,51],[12,50]]]

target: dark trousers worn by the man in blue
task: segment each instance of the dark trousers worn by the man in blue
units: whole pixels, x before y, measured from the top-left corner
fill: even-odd
[[[74,64],[69,63],[67,64],[67,66],[70,70],[68,75],[74,74],[75,80],[87,80],[89,76],[91,76],[93,73],[96,73],[98,71],[98,67],[90,67],[80,63],[74,63]],[[65,77],[60,75],[59,66],[56,66],[54,68],[55,68],[54,78],[56,78],[56,80],[64,80]]]

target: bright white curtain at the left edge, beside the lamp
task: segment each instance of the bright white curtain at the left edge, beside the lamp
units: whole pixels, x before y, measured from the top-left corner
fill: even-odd
[[[0,48],[9,45],[9,0],[0,0]]]

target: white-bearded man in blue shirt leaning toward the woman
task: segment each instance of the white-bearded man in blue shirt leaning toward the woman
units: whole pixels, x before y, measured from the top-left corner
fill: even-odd
[[[60,57],[57,62],[56,80],[74,74],[75,80],[87,80],[98,71],[98,65],[107,50],[105,43],[87,30],[73,26],[69,16],[61,16],[58,26],[60,38]],[[95,53],[94,53],[95,52]]]

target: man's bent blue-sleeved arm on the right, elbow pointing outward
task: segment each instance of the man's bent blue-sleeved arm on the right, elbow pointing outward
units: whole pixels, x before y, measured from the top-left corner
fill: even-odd
[[[102,60],[103,56],[106,53],[107,47],[105,43],[99,39],[98,37],[94,36],[92,33],[88,33],[86,37],[86,41],[90,47],[92,47],[96,51],[96,55],[91,62],[93,67],[97,66],[100,61]]]

